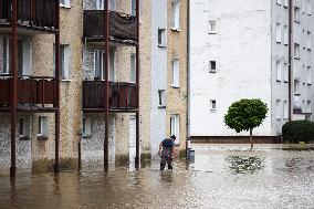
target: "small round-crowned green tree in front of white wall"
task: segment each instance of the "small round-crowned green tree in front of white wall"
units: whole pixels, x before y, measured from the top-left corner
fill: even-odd
[[[240,100],[229,106],[224,124],[237,133],[250,130],[251,149],[253,148],[253,128],[259,127],[268,114],[268,105],[259,98]]]

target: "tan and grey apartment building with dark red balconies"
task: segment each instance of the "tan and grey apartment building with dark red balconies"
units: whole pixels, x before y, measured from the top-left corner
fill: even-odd
[[[1,171],[139,167],[170,135],[185,149],[187,1],[161,2],[0,1]]]

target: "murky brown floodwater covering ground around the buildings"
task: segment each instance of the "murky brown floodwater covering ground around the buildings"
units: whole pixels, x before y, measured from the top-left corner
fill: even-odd
[[[192,146],[195,163],[176,160],[174,171],[160,173],[153,160],[108,174],[2,176],[0,208],[314,208],[314,149]]]

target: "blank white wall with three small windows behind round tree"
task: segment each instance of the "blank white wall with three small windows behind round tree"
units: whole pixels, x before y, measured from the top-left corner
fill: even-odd
[[[209,21],[217,22],[216,34],[209,34]],[[231,103],[258,97],[271,107],[271,1],[195,0],[190,23],[190,134],[238,135],[223,123]],[[209,72],[211,60],[216,73]],[[254,135],[273,134],[271,114]]]

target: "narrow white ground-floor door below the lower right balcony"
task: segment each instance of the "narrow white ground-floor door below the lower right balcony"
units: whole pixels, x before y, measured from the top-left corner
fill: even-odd
[[[128,124],[128,157],[129,157],[129,169],[135,168],[136,157],[136,118],[135,116],[129,117]]]

